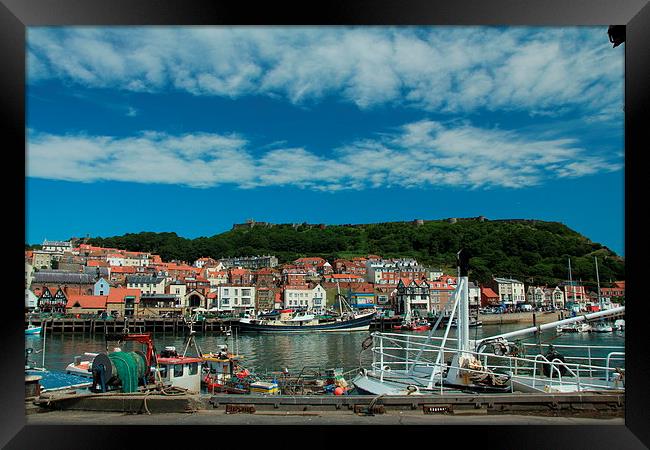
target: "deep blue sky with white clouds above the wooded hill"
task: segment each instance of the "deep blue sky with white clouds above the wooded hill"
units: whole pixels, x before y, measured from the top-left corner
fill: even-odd
[[[484,215],[623,254],[624,49],[606,27],[32,27],[27,43],[30,243]]]

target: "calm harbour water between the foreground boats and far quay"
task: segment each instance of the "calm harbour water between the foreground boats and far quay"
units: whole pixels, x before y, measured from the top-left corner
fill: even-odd
[[[520,329],[517,324],[509,325],[484,325],[471,328],[472,339],[493,336],[508,331]],[[454,336],[452,330],[451,337]],[[425,334],[425,333],[414,333]],[[442,335],[438,330],[436,334]],[[369,335],[368,332],[352,333],[310,333],[310,334],[238,334],[226,337],[216,333],[197,334],[196,341],[204,352],[216,351],[218,345],[227,344],[231,351],[237,351],[243,356],[242,363],[250,370],[263,373],[288,368],[292,372],[300,371],[303,367],[320,369],[343,368],[352,370],[368,367],[372,361],[369,350],[361,352],[361,343]],[[542,335],[542,343],[567,345],[625,345],[624,333],[573,333],[556,335],[554,331]],[[185,337],[156,333],[154,342],[158,351],[165,346],[173,345],[177,351],[182,351]],[[536,337],[521,339],[521,342],[537,342]],[[30,360],[40,366],[42,355],[40,352],[45,344],[45,367],[50,370],[64,370],[77,355],[84,352],[106,351],[104,336],[97,334],[90,336],[78,334],[48,333],[45,337],[39,335],[25,336],[25,346],[33,348],[34,353]],[[130,347],[133,345],[133,347]],[[139,349],[137,343],[127,343],[122,349]],[[39,353],[36,353],[39,351]]]

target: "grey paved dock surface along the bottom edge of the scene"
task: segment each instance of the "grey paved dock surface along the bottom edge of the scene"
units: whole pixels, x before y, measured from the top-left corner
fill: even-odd
[[[124,414],[51,411],[26,416],[27,425],[624,425],[623,417],[535,416],[520,414],[425,415],[421,411],[387,411],[363,416],[352,411],[257,411],[226,414],[224,410],[193,413]]]

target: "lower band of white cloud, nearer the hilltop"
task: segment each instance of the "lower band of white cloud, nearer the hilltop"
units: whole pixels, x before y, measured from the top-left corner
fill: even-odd
[[[571,138],[537,138],[469,123],[422,120],[324,156],[306,148],[251,148],[237,134],[142,132],[137,136],[30,131],[27,176],[244,189],[292,186],[340,191],[380,187],[522,188],[622,168]]]

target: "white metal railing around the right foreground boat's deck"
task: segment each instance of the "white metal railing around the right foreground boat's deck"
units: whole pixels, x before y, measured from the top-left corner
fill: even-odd
[[[373,333],[372,346],[372,371],[381,381],[389,379],[390,381],[415,385],[426,389],[433,389],[435,380],[440,381],[440,389],[443,390],[442,380],[443,372],[453,368],[448,362],[448,356],[457,353],[458,349],[453,346],[443,347],[441,344],[436,345],[432,341],[445,341],[444,338],[434,336],[414,336],[397,333]],[[419,342],[418,342],[419,341]],[[456,341],[454,338],[447,338],[449,341]],[[539,344],[526,344],[527,347],[538,347]],[[546,344],[545,346],[548,346]],[[608,346],[592,346],[600,351],[607,349],[616,349]],[[612,379],[613,373],[620,374],[619,367],[611,367],[613,361],[624,361],[625,354],[618,351],[610,351],[607,356],[597,357],[591,353],[588,346],[577,345],[553,345],[556,350],[580,350],[584,352],[589,350],[587,356],[563,355],[565,361],[554,358],[548,360],[541,353],[535,355],[512,356],[496,355],[489,352],[468,351],[467,354],[480,360],[484,368],[495,374],[508,374],[512,380],[528,381],[533,387],[540,384],[553,389],[561,386],[576,386],[578,390],[596,389],[602,390],[604,387],[618,387],[616,380]],[[417,359],[411,359],[411,355],[417,354]],[[439,355],[444,358],[439,359]],[[601,363],[604,361],[605,364]],[[550,371],[545,375],[543,368],[547,366]],[[562,368],[566,374],[562,375]],[[436,370],[437,369],[437,370]],[[485,373],[482,370],[473,370],[468,368],[458,368],[465,372]],[[594,382],[593,375],[596,373],[599,380],[603,382]],[[614,381],[614,386],[610,386]]]

